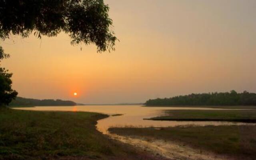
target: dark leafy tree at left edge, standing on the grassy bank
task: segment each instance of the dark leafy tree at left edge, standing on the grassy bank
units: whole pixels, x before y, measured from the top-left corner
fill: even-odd
[[[12,74],[0,67],[0,106],[8,105],[18,92],[12,90]]]

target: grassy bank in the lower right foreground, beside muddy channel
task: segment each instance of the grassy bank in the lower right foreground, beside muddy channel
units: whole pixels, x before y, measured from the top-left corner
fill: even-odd
[[[188,126],[161,128],[110,128],[122,136],[140,136],[223,154],[235,159],[256,158],[256,126]]]

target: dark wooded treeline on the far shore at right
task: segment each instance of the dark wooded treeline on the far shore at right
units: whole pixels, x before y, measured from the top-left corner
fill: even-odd
[[[214,92],[202,94],[189,94],[185,96],[175,96],[171,98],[157,98],[148,100],[146,106],[174,106],[174,105],[190,105],[190,106],[256,106],[256,94],[244,91],[237,93],[232,90],[230,92]]]

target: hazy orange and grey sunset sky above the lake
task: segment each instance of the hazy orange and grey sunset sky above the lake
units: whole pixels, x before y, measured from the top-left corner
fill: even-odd
[[[68,35],[0,41],[18,96],[85,104],[256,92],[255,0],[105,0],[115,52]],[[77,96],[73,93],[77,92]]]

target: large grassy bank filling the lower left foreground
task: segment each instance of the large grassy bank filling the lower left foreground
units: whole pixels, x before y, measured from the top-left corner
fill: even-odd
[[[0,160],[157,159],[96,130],[106,115],[0,109]]]

